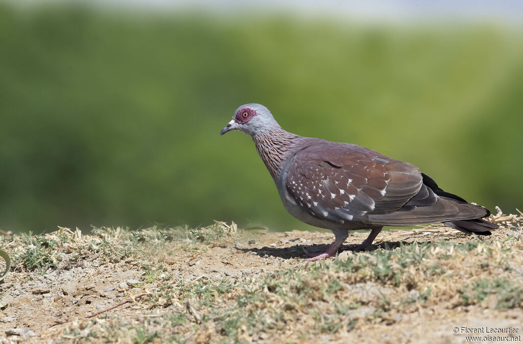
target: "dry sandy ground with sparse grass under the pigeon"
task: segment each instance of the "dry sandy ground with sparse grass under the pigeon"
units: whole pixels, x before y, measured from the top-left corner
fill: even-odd
[[[4,236],[0,342],[520,342],[523,216],[493,221],[485,238],[384,231],[365,253],[353,250],[367,233],[353,233],[319,262],[304,251],[325,250],[330,232],[217,222]]]

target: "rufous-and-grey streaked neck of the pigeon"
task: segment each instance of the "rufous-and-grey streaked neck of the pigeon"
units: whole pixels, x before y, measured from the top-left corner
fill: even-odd
[[[266,130],[253,136],[256,150],[275,181],[302,139],[303,137],[281,128]]]

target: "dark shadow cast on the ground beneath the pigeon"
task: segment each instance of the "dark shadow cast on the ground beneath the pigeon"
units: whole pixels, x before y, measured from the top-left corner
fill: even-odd
[[[385,241],[378,245],[370,245],[365,251],[374,251],[378,248],[382,248],[384,250],[391,251],[397,247],[400,247],[401,245],[412,245],[415,242],[406,242],[404,240],[397,241],[397,242],[389,242]],[[423,242],[427,243],[427,242]],[[430,242],[429,242],[430,243]],[[422,242],[417,243],[422,244]],[[324,253],[327,248],[329,248],[330,245],[326,244],[314,244],[314,245],[293,245],[289,247],[253,247],[253,248],[240,248],[236,247],[237,250],[242,251],[243,253],[255,253],[257,256],[260,257],[279,257],[283,259],[293,259],[293,258],[306,258],[305,253],[310,254],[321,254]],[[338,254],[342,253],[343,251],[358,251],[360,245],[343,245],[338,249]]]

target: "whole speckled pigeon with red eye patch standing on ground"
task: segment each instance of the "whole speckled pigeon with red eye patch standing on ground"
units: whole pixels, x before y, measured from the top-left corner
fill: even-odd
[[[372,244],[383,226],[441,222],[467,234],[490,235],[498,226],[482,217],[490,212],[443,191],[412,164],[350,143],[302,137],[283,130],[260,104],[242,105],[221,135],[250,135],[276,183],[285,209],[298,220],[328,228],[333,256],[348,231],[368,229],[359,249]]]

